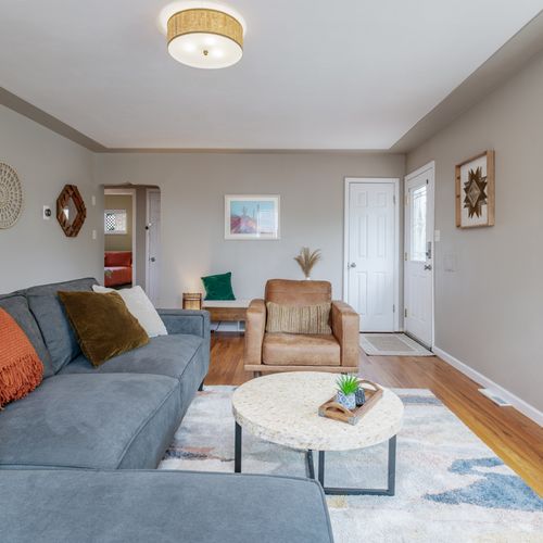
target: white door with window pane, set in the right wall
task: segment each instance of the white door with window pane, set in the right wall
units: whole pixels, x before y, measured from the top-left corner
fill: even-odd
[[[433,164],[405,178],[404,329],[433,346]]]

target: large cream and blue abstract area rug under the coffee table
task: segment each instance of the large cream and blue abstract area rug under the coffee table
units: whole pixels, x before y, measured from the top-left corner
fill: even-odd
[[[199,393],[160,468],[233,471],[232,391]],[[543,541],[543,500],[430,391],[396,393],[396,495],[327,496],[336,542]],[[326,469],[330,485],[386,485],[386,444],[328,453]],[[244,432],[243,471],[305,477],[304,456]]]

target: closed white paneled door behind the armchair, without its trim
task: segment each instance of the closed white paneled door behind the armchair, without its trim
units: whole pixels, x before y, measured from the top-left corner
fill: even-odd
[[[361,331],[392,332],[396,184],[375,181],[349,182],[346,301],[361,315]]]

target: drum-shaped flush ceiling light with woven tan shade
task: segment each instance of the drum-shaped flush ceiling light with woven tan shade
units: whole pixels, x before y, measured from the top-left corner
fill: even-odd
[[[199,68],[236,64],[243,54],[243,20],[212,2],[175,2],[161,13],[169,54]]]

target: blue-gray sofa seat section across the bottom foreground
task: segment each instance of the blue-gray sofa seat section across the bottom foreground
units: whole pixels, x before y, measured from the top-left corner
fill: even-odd
[[[315,481],[191,471],[2,473],[5,541],[332,543]]]

